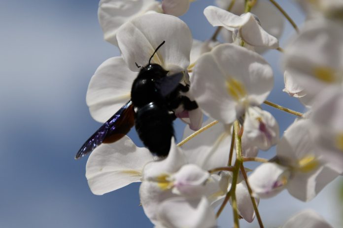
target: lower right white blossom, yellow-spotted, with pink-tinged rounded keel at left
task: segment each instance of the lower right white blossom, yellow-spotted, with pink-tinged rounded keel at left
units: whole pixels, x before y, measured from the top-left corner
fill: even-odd
[[[293,197],[309,201],[342,173],[343,167],[327,162],[315,147],[312,129],[310,120],[302,119],[285,131],[277,144],[278,164],[262,164],[249,176],[255,194],[273,197],[286,188]]]

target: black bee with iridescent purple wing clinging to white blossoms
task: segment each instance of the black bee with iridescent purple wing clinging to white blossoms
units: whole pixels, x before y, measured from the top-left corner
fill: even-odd
[[[131,88],[131,100],[109,118],[80,148],[75,159],[92,152],[101,143],[116,142],[135,125],[144,145],[155,155],[167,156],[174,136],[172,110],[183,105],[185,110],[198,108],[195,101],[180,94],[189,85],[180,84],[183,73],[167,76],[168,71],[156,63],[150,63],[163,41],[152,54],[149,63],[141,68]]]

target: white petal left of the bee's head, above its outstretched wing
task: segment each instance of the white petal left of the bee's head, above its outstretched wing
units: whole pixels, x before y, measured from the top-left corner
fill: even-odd
[[[126,66],[122,57],[104,61],[93,75],[87,90],[86,102],[92,117],[107,121],[131,97],[136,72]]]

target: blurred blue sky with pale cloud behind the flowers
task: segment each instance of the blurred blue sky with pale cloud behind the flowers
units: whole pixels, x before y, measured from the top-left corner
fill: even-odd
[[[200,40],[209,38],[214,31],[202,13],[210,2],[192,3],[191,10],[182,17]],[[292,1],[278,2],[298,24],[303,21]],[[100,126],[91,118],[85,102],[89,80],[105,59],[119,55],[103,40],[98,3],[0,1],[1,228],[152,227],[138,206],[139,184],[95,196],[85,178],[87,158],[74,160],[82,143]],[[285,37],[292,33],[286,22]],[[293,100],[280,92],[280,56],[276,51],[265,55],[275,74],[269,100],[302,111],[299,103],[291,104]],[[294,120],[290,114],[266,109],[275,115],[281,131]],[[180,128],[178,136],[182,136]],[[272,152],[267,156],[271,157]],[[339,224],[339,181],[309,203],[293,199],[286,191],[274,199],[262,200],[262,220],[269,224],[267,227],[276,227],[300,209],[311,207],[332,225]],[[231,217],[231,208],[227,207],[219,226],[231,227]],[[241,225],[256,227],[244,221]]]

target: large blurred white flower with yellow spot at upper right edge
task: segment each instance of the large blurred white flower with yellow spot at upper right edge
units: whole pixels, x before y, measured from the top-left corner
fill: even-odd
[[[285,48],[284,68],[314,97],[326,86],[343,86],[343,29],[329,20],[311,20]]]

